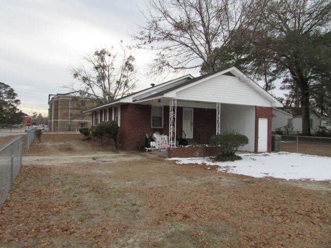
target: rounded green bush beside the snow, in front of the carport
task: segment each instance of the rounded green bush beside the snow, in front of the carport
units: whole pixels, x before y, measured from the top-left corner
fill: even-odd
[[[210,144],[219,146],[222,154],[217,156],[217,161],[235,161],[241,160],[241,157],[235,155],[239,146],[246,145],[249,140],[246,136],[238,134],[235,131],[227,131],[223,134],[213,135]]]

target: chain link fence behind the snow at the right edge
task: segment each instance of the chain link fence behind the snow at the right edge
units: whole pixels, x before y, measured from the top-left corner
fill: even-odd
[[[280,150],[331,157],[331,138],[282,135]]]

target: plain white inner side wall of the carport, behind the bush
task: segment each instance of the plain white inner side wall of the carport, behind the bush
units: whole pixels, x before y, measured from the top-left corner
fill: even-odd
[[[234,130],[247,136],[249,144],[239,150],[255,150],[255,107],[222,104],[220,106],[220,133]]]

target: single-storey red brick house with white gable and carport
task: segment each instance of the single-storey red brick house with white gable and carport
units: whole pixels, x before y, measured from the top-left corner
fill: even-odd
[[[237,68],[197,78],[186,75],[85,111],[92,129],[116,120],[119,147],[137,149],[146,134],[158,131],[209,144],[212,135],[234,130],[249,138],[246,151],[271,150],[271,107],[282,104]]]

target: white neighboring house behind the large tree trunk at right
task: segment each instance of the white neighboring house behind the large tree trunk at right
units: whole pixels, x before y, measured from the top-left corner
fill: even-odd
[[[278,131],[284,126],[293,128],[292,133],[302,133],[302,113],[301,108],[283,107],[272,109],[272,131]],[[328,117],[318,114],[315,110],[310,111],[310,132],[314,134],[318,130],[318,126],[328,124]],[[331,122],[330,122],[331,124]],[[331,126],[331,125],[330,125]]]

